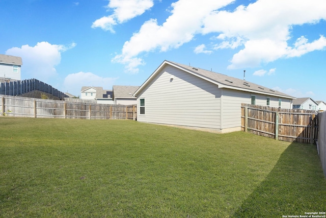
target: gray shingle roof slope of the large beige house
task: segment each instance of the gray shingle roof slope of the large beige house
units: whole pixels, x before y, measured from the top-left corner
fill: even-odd
[[[175,63],[172,61],[166,61],[166,62],[172,63],[173,65],[177,65],[187,71],[191,71],[195,75],[203,76],[204,78],[206,78],[208,80],[212,80],[218,84],[221,84],[225,88],[242,89],[242,90],[248,90],[248,91],[254,91],[254,92],[264,92],[264,93],[268,93],[271,95],[281,95],[281,96],[286,96],[291,99],[295,99],[294,97],[292,97],[288,94],[285,94],[285,93],[282,93],[277,90],[273,90],[273,89],[270,89],[270,88],[267,88],[267,87],[264,87],[261,85],[257,85],[255,83],[251,83],[247,80],[241,80],[238,78],[229,77],[224,74],[219,74],[217,72],[213,72],[213,71],[209,71],[209,70],[205,70],[205,69],[201,69],[201,68],[197,68],[197,67],[187,66],[187,65]]]

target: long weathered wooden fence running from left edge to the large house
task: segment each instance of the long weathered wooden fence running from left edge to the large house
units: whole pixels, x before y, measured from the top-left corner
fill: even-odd
[[[1,113],[35,118],[136,119],[136,105],[107,105],[0,95]]]

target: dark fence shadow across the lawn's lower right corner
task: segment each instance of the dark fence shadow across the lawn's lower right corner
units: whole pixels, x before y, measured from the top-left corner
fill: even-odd
[[[326,180],[316,146],[291,143],[233,217],[285,217],[325,211]]]

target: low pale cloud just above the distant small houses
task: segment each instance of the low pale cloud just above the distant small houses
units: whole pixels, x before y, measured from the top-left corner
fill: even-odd
[[[92,72],[77,72],[76,74],[69,74],[65,78],[63,90],[78,96],[83,86],[100,86],[103,89],[112,89],[117,79],[99,77]]]

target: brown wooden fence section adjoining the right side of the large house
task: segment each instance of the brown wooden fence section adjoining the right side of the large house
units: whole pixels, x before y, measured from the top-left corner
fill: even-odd
[[[315,143],[318,115],[310,110],[241,104],[241,130],[282,141]]]

